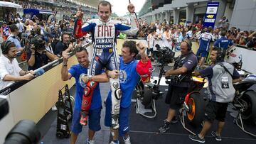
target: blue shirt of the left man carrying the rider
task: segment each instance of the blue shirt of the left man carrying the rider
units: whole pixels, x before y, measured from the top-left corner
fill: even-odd
[[[68,69],[68,72],[75,77],[75,106],[74,109],[80,111],[82,105],[82,94],[84,88],[79,83],[79,77],[81,74],[87,74],[87,68],[82,67],[80,64],[73,65]],[[92,103],[90,110],[99,109],[102,106],[102,100],[100,95],[100,83],[97,84],[92,96]]]

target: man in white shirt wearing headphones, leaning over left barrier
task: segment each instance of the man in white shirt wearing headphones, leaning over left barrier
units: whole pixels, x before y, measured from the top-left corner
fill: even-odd
[[[3,55],[0,56],[0,90],[16,81],[33,79],[34,72],[23,71],[16,60],[17,48],[13,42],[6,40],[1,43]]]

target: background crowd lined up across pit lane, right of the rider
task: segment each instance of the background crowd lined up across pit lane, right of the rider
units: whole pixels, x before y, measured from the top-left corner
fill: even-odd
[[[198,23],[186,23],[186,25],[181,24],[171,24],[167,23],[166,20],[155,23],[147,23],[146,21],[139,18],[139,25],[141,31],[139,32],[139,37],[147,37],[151,29],[156,29],[156,38],[166,39],[169,41],[169,47],[174,47],[177,43],[181,43],[182,40],[188,39],[198,39],[201,33],[207,31],[208,28],[203,28],[202,21]],[[225,37],[232,40],[233,43],[239,45],[245,45],[250,48],[256,48],[256,31],[240,31],[240,28],[231,27],[228,28],[228,20],[223,16],[220,19],[218,26],[215,28],[210,28],[209,33],[213,35],[214,40],[220,38],[221,31],[226,31]],[[167,45],[165,45],[167,46]]]

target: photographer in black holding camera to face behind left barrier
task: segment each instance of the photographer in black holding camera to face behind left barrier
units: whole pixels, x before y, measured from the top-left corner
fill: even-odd
[[[57,60],[58,57],[46,50],[45,40],[37,36],[31,40],[31,48],[27,52],[28,70],[36,70],[49,61]]]

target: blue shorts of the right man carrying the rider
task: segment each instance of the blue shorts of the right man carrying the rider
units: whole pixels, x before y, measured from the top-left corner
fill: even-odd
[[[110,97],[110,96],[109,96]],[[111,99],[106,100],[105,126],[111,127]],[[131,112],[131,105],[127,108],[120,106],[119,113],[119,136],[124,136],[129,131],[129,113]]]

